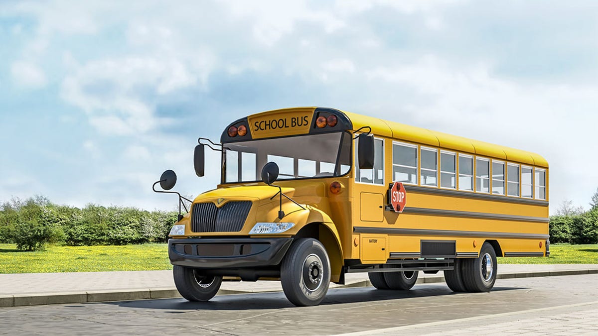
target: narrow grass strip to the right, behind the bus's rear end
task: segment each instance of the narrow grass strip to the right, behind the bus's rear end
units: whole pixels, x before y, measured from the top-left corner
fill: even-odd
[[[598,264],[598,244],[551,244],[550,256],[498,258],[499,264]]]

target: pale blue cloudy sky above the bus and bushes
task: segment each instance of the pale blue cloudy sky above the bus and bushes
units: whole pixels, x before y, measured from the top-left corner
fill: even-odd
[[[202,136],[327,106],[536,152],[551,213],[598,187],[596,1],[0,2],[0,201],[170,210]]]

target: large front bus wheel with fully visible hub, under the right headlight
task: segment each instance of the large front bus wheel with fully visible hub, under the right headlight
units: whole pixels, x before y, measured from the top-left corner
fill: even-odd
[[[316,306],[330,285],[330,260],[324,245],[313,238],[292,243],[280,265],[280,283],[295,306]]]

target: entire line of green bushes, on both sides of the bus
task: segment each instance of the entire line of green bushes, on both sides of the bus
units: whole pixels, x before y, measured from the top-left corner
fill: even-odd
[[[565,201],[550,216],[551,243],[598,243],[598,189],[590,209]],[[59,245],[127,245],[165,243],[175,211],[147,211],[134,207],[78,207],[57,205],[45,197],[13,198],[0,205],[0,243],[15,243],[21,251]]]

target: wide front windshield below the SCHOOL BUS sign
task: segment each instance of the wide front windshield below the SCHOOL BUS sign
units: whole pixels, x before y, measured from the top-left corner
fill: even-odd
[[[278,164],[279,180],[341,176],[351,167],[348,132],[225,143],[222,183],[261,181],[266,163]]]

